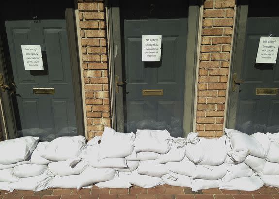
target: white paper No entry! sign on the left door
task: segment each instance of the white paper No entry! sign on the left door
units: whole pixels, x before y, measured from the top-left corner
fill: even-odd
[[[43,70],[41,45],[21,45],[24,69]]]

